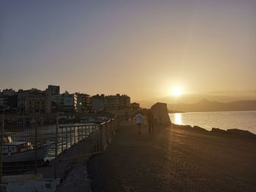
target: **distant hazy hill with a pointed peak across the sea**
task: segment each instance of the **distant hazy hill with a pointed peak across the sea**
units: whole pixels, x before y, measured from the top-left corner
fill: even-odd
[[[167,104],[169,110],[183,112],[251,111],[256,110],[256,100],[222,103],[202,99],[195,104]]]

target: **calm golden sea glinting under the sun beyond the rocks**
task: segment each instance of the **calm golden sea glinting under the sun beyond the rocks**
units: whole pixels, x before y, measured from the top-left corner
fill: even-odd
[[[224,130],[238,128],[256,134],[256,111],[169,113],[172,123]]]

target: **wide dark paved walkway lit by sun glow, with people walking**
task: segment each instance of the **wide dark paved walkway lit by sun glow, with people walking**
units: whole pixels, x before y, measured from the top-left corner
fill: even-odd
[[[92,190],[256,191],[255,142],[230,148],[232,139],[216,138],[178,128],[149,135],[143,127],[138,134],[125,123],[105,153],[89,161]]]

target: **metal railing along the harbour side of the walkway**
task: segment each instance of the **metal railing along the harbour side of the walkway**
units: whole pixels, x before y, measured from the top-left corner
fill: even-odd
[[[3,117],[0,120],[0,183],[61,177],[58,173],[61,162],[102,153],[123,118],[124,115],[116,115],[100,124],[64,125],[59,124],[58,115],[34,117],[35,122],[29,124],[9,123]]]

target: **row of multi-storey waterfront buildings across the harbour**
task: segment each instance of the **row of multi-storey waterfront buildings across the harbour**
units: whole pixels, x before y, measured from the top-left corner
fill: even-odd
[[[5,89],[0,91],[0,110],[10,115],[52,115],[56,112],[63,114],[88,115],[97,112],[124,112],[140,108],[140,104],[131,103],[129,96],[94,95],[86,93],[60,92],[59,85],[48,85],[48,88],[39,90]]]

